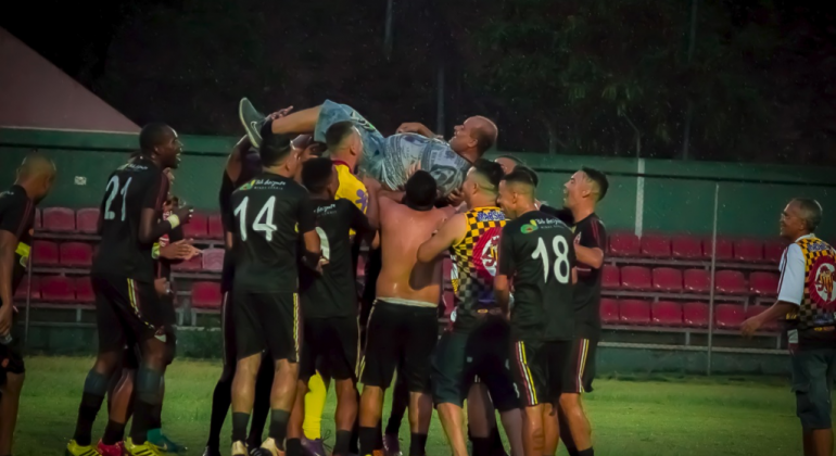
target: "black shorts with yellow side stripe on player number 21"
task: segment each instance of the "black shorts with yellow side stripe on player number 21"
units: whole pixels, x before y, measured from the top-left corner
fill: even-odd
[[[165,309],[153,282],[92,276],[99,352],[117,352],[130,343],[157,338],[166,342]]]

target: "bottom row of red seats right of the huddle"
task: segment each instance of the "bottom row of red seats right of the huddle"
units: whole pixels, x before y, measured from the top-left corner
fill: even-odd
[[[739,304],[717,304],[714,306],[714,325],[721,329],[737,329],[746,318],[765,311],[767,306],[750,305],[744,309]],[[636,325],[708,328],[708,304],[670,301],[649,303],[639,300],[600,301],[600,316],[604,325]],[[763,327],[765,331],[775,331],[775,321]]]

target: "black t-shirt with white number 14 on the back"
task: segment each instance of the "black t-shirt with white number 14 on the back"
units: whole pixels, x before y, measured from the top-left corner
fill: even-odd
[[[236,290],[297,291],[297,240],[316,228],[307,190],[265,172],[236,190],[231,203]]]

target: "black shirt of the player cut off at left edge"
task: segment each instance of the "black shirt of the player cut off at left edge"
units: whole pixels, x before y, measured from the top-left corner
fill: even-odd
[[[35,225],[35,204],[21,186],[12,186],[0,193],[0,230],[17,238],[12,270],[12,293],[23,280],[31,246],[31,227]]]

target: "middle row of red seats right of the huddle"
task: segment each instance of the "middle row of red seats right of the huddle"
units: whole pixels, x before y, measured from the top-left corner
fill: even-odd
[[[711,273],[706,269],[675,269],[642,266],[605,265],[601,273],[601,286],[610,290],[657,291],[666,293],[708,293],[711,291]],[[723,294],[757,294],[774,296],[777,294],[778,276],[773,273],[755,271],[746,277],[739,270],[718,270],[714,276],[714,290]]]

